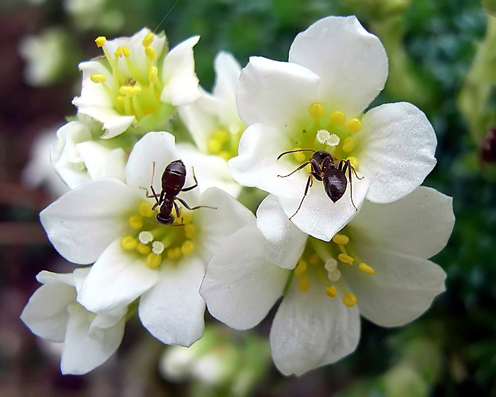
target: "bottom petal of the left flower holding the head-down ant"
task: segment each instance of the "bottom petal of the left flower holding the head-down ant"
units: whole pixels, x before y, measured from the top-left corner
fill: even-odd
[[[201,338],[205,302],[200,297],[205,266],[196,256],[162,264],[160,281],[139,302],[144,327],[166,344],[190,346]]]

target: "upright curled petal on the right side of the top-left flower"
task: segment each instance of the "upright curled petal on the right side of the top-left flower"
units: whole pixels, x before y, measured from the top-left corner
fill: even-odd
[[[194,72],[193,46],[200,36],[193,36],[174,47],[164,59],[160,99],[174,106],[186,105],[200,98],[198,78]]]

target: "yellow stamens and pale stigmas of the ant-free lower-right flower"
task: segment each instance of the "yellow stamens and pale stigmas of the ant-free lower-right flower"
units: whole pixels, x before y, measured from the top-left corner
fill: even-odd
[[[310,237],[293,274],[299,278],[298,286],[304,293],[310,288],[308,272],[315,272],[323,284],[323,292],[329,298],[335,298],[339,290],[343,294],[343,303],[352,307],[357,303],[357,297],[346,290],[339,269],[341,266],[353,266],[356,263],[358,270],[364,275],[372,276],[375,273],[371,266],[358,257],[345,234],[336,234],[329,243]]]

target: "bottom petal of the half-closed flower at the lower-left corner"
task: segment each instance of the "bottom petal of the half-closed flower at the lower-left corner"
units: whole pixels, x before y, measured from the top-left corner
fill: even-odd
[[[67,334],[62,350],[62,374],[85,374],[102,365],[121,345],[125,319],[106,330],[89,334],[94,317],[78,304],[69,307]]]

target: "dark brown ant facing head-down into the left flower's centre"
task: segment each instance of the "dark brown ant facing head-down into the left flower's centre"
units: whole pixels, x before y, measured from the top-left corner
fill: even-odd
[[[182,160],[174,160],[167,167],[165,167],[164,173],[162,174],[162,192],[160,192],[160,197],[157,196],[155,190],[153,189],[153,177],[155,176],[155,161],[153,162],[153,172],[152,172],[152,182],[150,184],[150,189],[152,191],[152,195],[148,194],[148,189],[141,188],[146,191],[147,198],[155,198],[156,202],[153,204],[152,210],[157,208],[160,205],[160,211],[157,214],[157,221],[162,225],[172,225],[174,222],[174,216],[172,215],[172,207],[176,209],[176,215],[179,218],[181,216],[181,210],[179,209],[176,200],[178,200],[181,204],[183,204],[187,209],[192,211],[193,209],[198,208],[212,208],[217,209],[217,207],[210,207],[208,205],[197,205],[196,207],[190,207],[187,205],[186,201],[180,199],[178,195],[181,192],[188,192],[198,186],[198,181],[196,180],[196,176],[193,171],[193,179],[194,185],[189,188],[183,189],[186,183],[186,167]],[[180,225],[174,226],[184,226],[183,220],[181,219]]]

